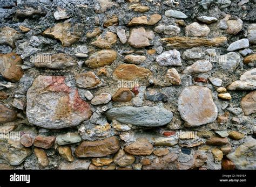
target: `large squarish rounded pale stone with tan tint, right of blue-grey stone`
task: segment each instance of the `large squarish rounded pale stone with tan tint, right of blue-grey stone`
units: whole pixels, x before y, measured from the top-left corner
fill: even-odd
[[[217,118],[218,109],[208,88],[183,89],[178,98],[178,105],[180,116],[188,127],[211,123]]]

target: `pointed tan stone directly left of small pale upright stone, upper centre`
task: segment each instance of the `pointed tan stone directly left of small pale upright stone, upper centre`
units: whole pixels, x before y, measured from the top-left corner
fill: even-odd
[[[96,41],[91,42],[92,45],[99,48],[109,49],[117,42],[117,35],[112,32],[100,34]]]

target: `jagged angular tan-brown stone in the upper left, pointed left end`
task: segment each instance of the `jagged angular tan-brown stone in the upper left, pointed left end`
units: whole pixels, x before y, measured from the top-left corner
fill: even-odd
[[[57,23],[53,27],[46,29],[43,35],[58,39],[63,47],[70,47],[80,39],[83,33],[84,24]]]

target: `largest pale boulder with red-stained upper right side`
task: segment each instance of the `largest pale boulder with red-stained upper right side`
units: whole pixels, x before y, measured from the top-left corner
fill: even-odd
[[[64,81],[65,77],[60,76],[35,79],[27,93],[26,113],[30,123],[44,128],[65,128],[91,117],[89,104],[79,97],[77,89],[68,87]]]

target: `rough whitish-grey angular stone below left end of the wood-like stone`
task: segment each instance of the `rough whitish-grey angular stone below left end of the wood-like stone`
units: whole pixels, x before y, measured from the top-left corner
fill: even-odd
[[[182,66],[180,53],[176,49],[166,51],[157,56],[159,66]]]

